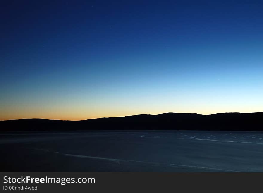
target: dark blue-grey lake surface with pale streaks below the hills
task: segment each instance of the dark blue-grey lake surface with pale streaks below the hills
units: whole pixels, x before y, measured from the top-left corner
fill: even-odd
[[[1,172],[263,172],[263,132],[1,133]]]

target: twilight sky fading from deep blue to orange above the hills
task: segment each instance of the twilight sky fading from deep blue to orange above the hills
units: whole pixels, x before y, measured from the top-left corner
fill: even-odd
[[[1,3],[0,120],[263,111],[262,1]]]

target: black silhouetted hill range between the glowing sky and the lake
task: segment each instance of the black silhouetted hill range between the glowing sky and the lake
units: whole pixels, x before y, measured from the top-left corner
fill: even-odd
[[[132,115],[83,121],[18,119],[0,121],[1,131],[66,131],[66,130],[221,130],[263,131],[263,112],[163,113]]]

